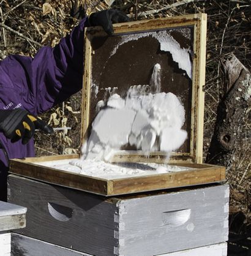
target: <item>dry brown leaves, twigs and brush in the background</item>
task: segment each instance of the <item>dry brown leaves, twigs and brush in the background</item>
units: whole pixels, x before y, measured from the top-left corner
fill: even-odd
[[[89,11],[119,9],[132,20],[208,13],[206,55],[204,156],[208,151],[217,105],[225,93],[220,59],[234,53],[251,69],[251,1],[162,1],[162,0],[0,0],[0,58],[10,54],[34,56],[42,45],[54,46]],[[71,127],[54,135],[36,134],[37,155],[69,154],[80,146],[81,92],[58,105],[42,118],[54,127]],[[250,108],[249,108],[250,110]],[[250,111],[227,178],[231,187],[230,224],[236,233],[250,236],[251,159]],[[244,255],[244,254],[240,254]]]

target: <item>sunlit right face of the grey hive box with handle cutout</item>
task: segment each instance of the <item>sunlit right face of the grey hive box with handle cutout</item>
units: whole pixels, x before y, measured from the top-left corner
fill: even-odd
[[[225,242],[228,200],[228,185],[121,200],[117,254],[151,256]]]

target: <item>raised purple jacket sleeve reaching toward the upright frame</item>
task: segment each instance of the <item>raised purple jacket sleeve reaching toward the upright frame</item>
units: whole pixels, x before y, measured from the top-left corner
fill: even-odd
[[[34,58],[10,55],[4,59],[0,65],[2,104],[12,102],[13,107],[39,115],[79,91],[83,78],[84,23],[86,18],[56,47],[42,47]],[[5,100],[7,90],[9,94],[13,92],[12,100]]]

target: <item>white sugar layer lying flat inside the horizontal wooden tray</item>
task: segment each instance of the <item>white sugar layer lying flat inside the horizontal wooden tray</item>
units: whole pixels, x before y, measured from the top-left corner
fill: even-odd
[[[117,163],[110,164],[97,160],[64,159],[48,162],[37,162],[37,165],[56,168],[58,170],[70,171],[81,175],[88,175],[96,178],[115,179],[129,178],[132,176],[155,175],[160,173],[173,173],[185,171],[190,168],[173,165],[154,163]]]

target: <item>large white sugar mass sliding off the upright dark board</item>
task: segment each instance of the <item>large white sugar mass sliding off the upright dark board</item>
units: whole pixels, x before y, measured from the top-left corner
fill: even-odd
[[[171,92],[158,92],[159,76],[160,65],[156,64],[151,86],[132,86],[125,99],[118,94],[109,97],[107,106],[92,122],[81,159],[110,161],[113,153],[125,145],[135,146],[146,155],[152,151],[168,155],[184,143],[184,107]],[[157,93],[147,93],[149,90]]]

